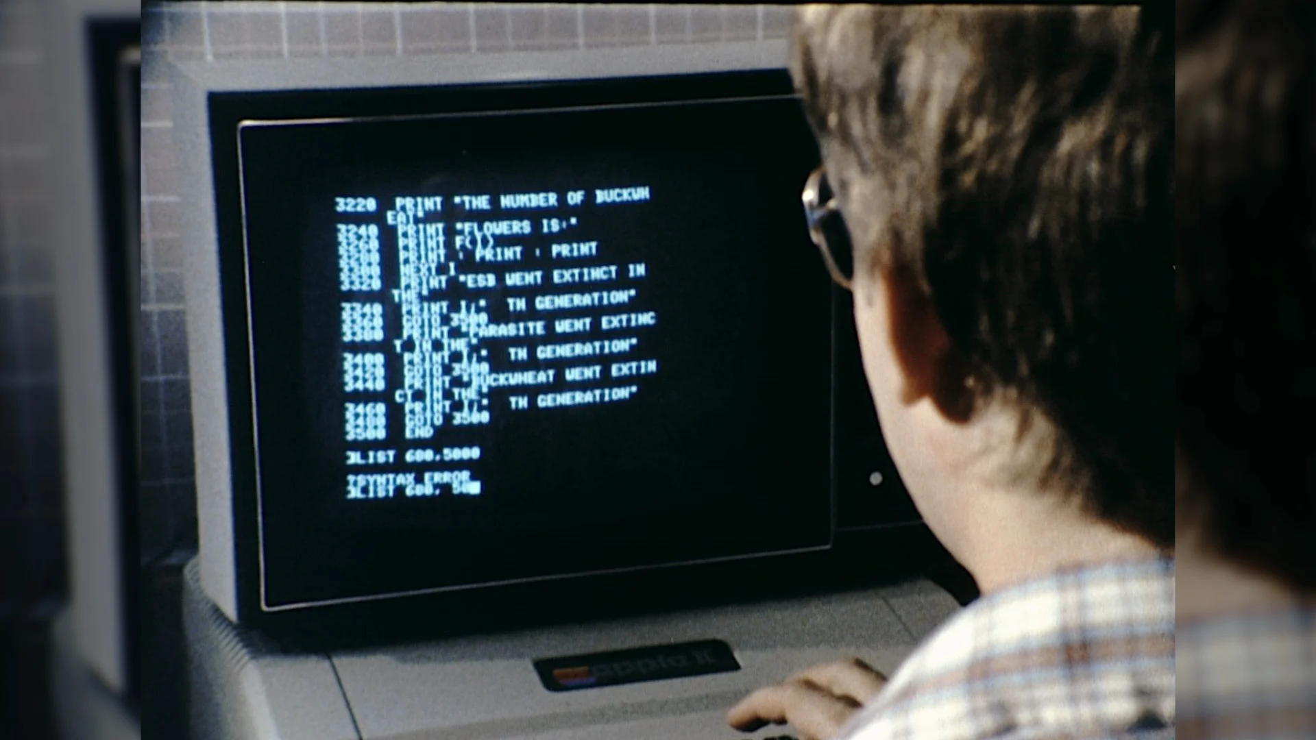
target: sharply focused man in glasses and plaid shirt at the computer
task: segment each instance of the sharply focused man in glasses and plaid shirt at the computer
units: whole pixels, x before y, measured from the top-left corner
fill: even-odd
[[[1174,736],[1165,30],[1132,7],[800,11],[815,241],[901,478],[983,596],[890,681],[821,666],[732,726]]]

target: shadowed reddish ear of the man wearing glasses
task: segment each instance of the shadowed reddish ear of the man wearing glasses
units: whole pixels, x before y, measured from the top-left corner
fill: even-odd
[[[948,420],[967,421],[974,411],[970,367],[946,333],[937,308],[908,267],[883,267],[878,277],[891,323],[891,349],[900,370],[900,400],[932,400]]]

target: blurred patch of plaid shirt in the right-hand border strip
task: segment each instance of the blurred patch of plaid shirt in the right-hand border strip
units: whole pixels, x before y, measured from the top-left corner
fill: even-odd
[[[1194,620],[1178,639],[1184,739],[1316,737],[1316,610]]]

